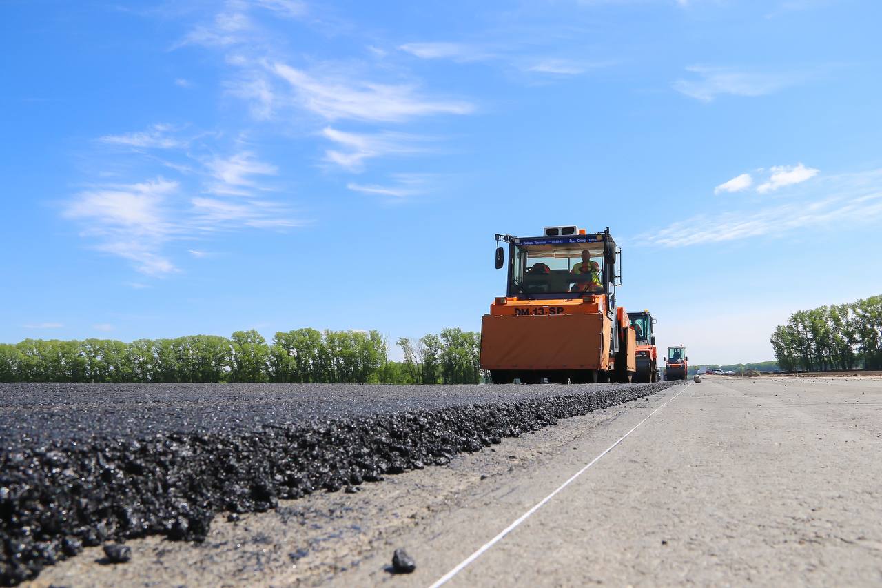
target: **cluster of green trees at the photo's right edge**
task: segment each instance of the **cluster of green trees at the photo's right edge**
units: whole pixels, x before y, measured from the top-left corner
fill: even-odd
[[[797,311],[771,342],[785,371],[882,369],[882,296]]]

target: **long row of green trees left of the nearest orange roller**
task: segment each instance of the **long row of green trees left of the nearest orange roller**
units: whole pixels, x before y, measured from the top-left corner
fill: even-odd
[[[272,343],[253,329],[131,343],[26,339],[0,343],[0,381],[469,384],[483,378],[480,343],[478,333],[445,328],[401,338],[405,359],[392,361],[376,330],[298,328]]]

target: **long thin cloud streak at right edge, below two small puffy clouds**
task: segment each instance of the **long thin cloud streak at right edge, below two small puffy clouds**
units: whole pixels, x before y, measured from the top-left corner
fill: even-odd
[[[787,203],[732,210],[717,215],[693,215],[639,237],[644,245],[683,247],[721,243],[748,237],[783,237],[796,231],[829,230],[837,223],[882,220],[882,170],[826,178],[812,192]]]

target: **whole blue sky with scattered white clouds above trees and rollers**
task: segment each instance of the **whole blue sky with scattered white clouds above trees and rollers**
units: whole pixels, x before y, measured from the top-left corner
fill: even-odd
[[[882,292],[882,4],[7,1],[0,340],[480,328],[609,226],[693,363]]]

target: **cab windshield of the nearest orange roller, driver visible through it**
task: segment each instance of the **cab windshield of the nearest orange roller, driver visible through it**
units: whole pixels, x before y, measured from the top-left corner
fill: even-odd
[[[603,244],[515,245],[509,292],[519,294],[602,293]]]

